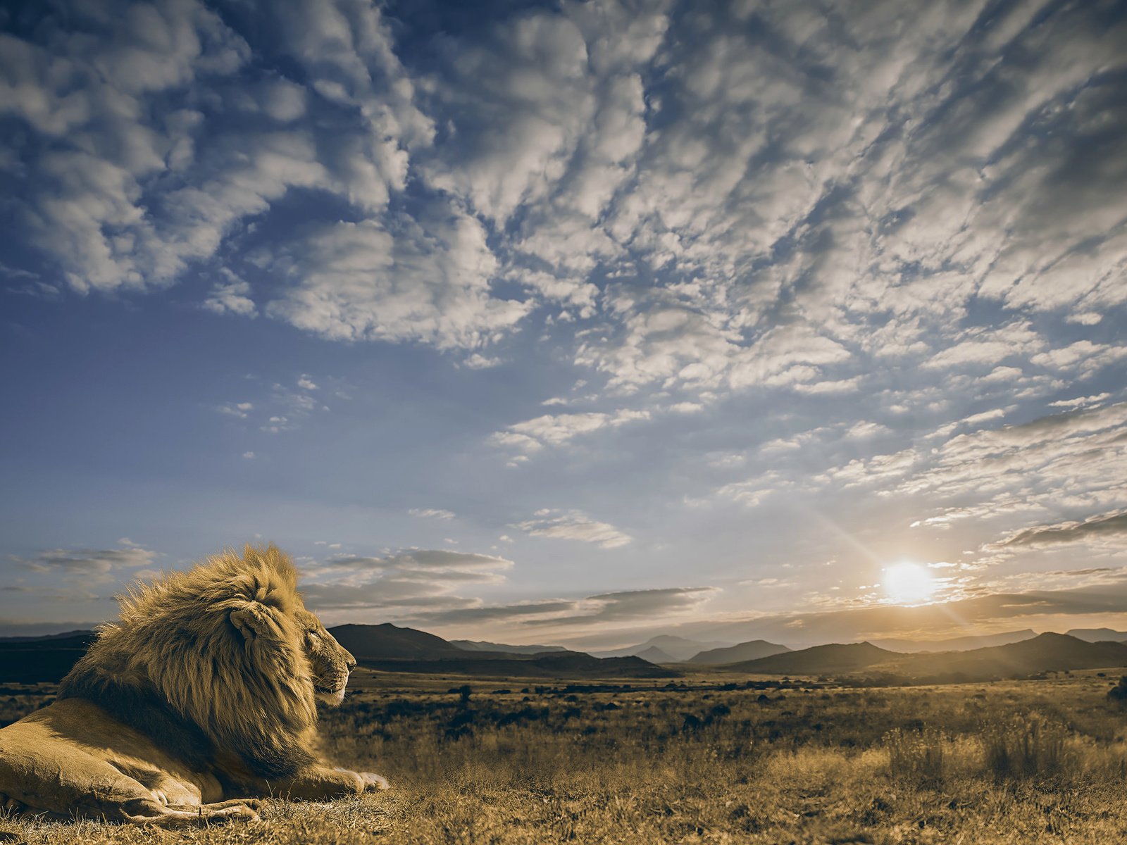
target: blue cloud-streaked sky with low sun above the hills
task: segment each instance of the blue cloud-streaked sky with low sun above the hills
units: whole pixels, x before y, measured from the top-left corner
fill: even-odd
[[[0,12],[0,633],[1127,629],[1122,2]],[[907,573],[915,589],[890,589]]]

